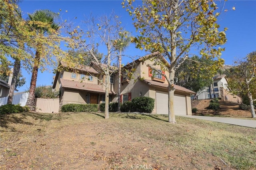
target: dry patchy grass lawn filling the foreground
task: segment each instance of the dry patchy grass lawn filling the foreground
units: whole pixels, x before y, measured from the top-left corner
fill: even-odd
[[[256,130],[165,115],[1,115],[0,169],[256,169]]]

